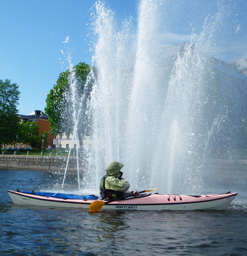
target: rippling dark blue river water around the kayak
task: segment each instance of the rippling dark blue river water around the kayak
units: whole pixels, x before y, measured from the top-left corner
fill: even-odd
[[[88,211],[12,204],[52,190],[47,172],[0,170],[0,255],[247,255],[247,198],[223,211]],[[233,192],[233,191],[232,191]]]

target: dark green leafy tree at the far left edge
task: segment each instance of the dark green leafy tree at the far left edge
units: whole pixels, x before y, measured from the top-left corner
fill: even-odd
[[[19,86],[9,79],[0,80],[0,143],[12,143],[19,127],[17,105]]]

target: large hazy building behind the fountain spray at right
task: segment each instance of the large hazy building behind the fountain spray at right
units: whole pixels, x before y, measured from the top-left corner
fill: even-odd
[[[193,51],[193,45],[189,43],[172,45],[160,50],[159,58],[164,60],[161,62],[163,65],[161,69],[164,70],[164,77],[168,77],[167,83],[174,69],[174,63],[179,56],[183,57],[188,47]],[[203,53],[197,52],[196,56],[200,56],[200,67],[202,67],[200,82],[205,88],[203,90],[205,98],[202,95],[200,100],[208,102],[201,105],[201,115],[197,116],[202,124],[197,125],[198,134],[208,134],[210,129],[208,127],[215,125],[217,132],[211,138],[212,149],[217,147],[246,149],[247,59],[235,59],[228,64]]]

